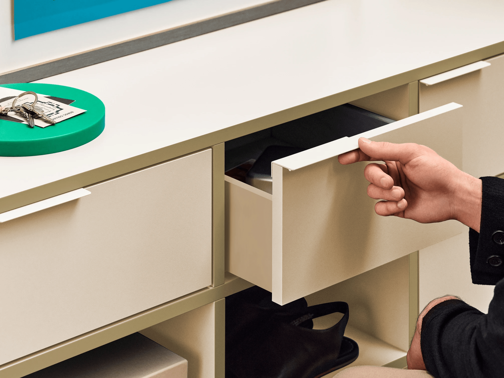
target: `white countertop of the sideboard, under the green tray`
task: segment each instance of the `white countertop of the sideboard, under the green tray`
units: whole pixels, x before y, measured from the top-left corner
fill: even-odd
[[[326,0],[40,80],[101,98],[105,130],[73,150],[0,157],[0,202],[110,164],[109,177],[127,172],[117,162],[154,150],[163,149],[129,170],[336,106],[376,81],[391,78],[392,87],[439,73],[420,68],[504,41],[502,20],[504,3],[491,0]],[[321,100],[338,93],[347,98]],[[138,110],[144,103],[155,106]]]

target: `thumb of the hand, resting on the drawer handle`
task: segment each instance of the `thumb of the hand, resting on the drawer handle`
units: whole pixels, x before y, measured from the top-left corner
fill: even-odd
[[[391,160],[406,164],[422,154],[420,145],[416,143],[373,142],[359,138],[359,148],[373,160]]]

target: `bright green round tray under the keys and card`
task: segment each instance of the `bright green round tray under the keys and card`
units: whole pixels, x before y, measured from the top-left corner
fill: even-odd
[[[91,142],[105,128],[105,105],[91,93],[54,84],[1,86],[75,100],[71,106],[87,111],[45,128],[32,129],[24,123],[0,119],[0,156],[34,156],[70,150]]]

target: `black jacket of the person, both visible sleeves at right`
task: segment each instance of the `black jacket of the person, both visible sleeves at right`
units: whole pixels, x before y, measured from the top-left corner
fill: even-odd
[[[496,286],[488,314],[451,299],[423,318],[423,361],[436,378],[504,377],[504,232],[498,232],[504,231],[504,180],[481,179],[480,233],[469,230],[471,275],[473,283]]]

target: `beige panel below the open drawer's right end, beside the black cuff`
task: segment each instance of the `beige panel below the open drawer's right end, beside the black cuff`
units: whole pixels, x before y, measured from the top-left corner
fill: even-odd
[[[482,312],[488,311],[494,286],[474,285],[469,267],[469,232],[420,249],[418,256],[419,311],[432,299],[460,296]]]

